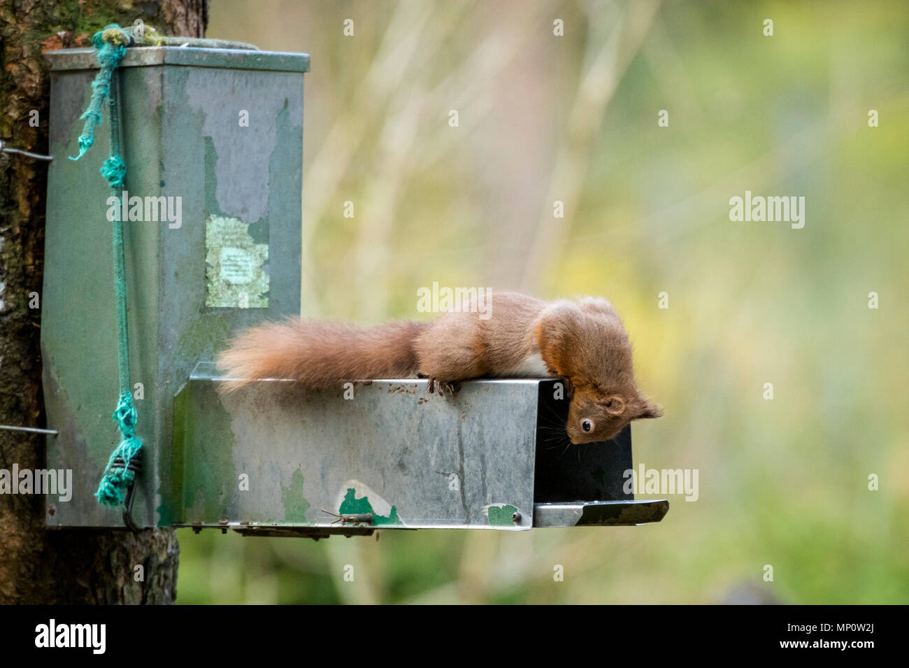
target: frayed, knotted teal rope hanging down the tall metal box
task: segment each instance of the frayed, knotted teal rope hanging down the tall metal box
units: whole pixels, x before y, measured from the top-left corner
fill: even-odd
[[[79,155],[71,160],[78,160],[95,141],[95,126],[101,123],[101,107],[107,100],[110,113],[111,155],[101,167],[101,174],[110,184],[115,197],[123,196],[126,165],[120,157],[120,111],[116,99],[114,73],[123,60],[131,37],[119,25],[107,25],[101,32],[95,33],[92,42],[97,50],[98,65],[101,71],[92,82],[92,99],[82,115],[85,118],[85,129],[79,136]],[[120,430],[122,440],[111,454],[105,468],[105,475],[98,485],[95,498],[106,505],[123,503],[126,490],[135,480],[135,472],[129,470],[129,463],[142,449],[142,441],[135,435],[135,424],[138,414],[133,405],[133,393],[129,383],[129,334],[126,329],[126,271],[123,250],[123,221],[115,220],[114,239],[114,293],[116,299],[116,334],[117,334],[117,374],[120,381],[120,397],[113,414],[114,422]],[[121,457],[123,465],[115,466],[115,460]],[[121,463],[118,463],[121,464]]]

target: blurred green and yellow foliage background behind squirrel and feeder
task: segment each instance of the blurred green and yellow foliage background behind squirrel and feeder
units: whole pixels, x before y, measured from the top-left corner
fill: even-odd
[[[907,28],[903,0],[213,3],[209,36],[312,55],[303,313],[602,294],[665,409],[635,463],[700,498],[634,528],[181,530],[179,602],[909,602]],[[731,222],[745,190],[804,196],[804,229]]]

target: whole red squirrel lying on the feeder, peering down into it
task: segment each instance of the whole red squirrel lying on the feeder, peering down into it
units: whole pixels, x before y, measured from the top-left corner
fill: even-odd
[[[218,356],[228,374],[220,389],[232,392],[258,378],[325,388],[417,374],[429,379],[430,393],[444,395],[472,378],[548,375],[567,381],[573,444],[608,441],[632,420],[662,415],[638,392],[628,334],[602,297],[544,302],[493,292],[486,319],[476,311],[468,306],[432,322],[369,329],[300,318],[260,324]]]

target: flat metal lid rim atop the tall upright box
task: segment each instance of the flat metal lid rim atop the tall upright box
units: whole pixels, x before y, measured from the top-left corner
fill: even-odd
[[[95,70],[95,49],[58,49],[45,57],[51,70]],[[234,70],[271,70],[276,72],[309,72],[309,54],[252,49],[216,49],[195,46],[131,46],[119,67],[150,65],[185,65],[221,67]]]

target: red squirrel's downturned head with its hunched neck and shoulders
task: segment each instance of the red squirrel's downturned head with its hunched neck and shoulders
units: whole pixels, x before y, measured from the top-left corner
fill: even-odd
[[[549,371],[569,383],[573,444],[608,441],[632,420],[663,414],[638,392],[628,334],[605,299],[555,302],[540,314],[535,334]]]

